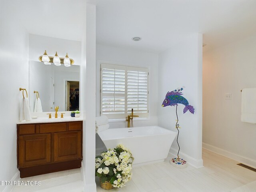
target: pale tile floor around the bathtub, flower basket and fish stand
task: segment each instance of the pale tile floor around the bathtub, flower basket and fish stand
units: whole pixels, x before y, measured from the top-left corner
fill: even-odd
[[[256,172],[238,162],[203,149],[204,167],[184,169],[170,165],[171,156],[162,162],[133,169],[132,180],[124,188],[109,192],[256,192]],[[100,188],[96,178],[97,192]]]

